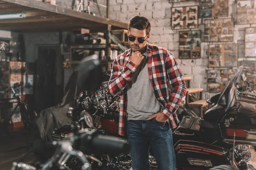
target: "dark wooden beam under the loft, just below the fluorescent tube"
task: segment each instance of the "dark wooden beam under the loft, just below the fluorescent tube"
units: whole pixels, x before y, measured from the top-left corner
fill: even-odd
[[[38,23],[43,21],[59,21],[59,20],[72,20],[73,17],[67,17],[64,15],[50,15],[45,17],[28,17],[28,18],[18,18],[18,19],[7,19],[0,20],[0,24],[4,23]]]

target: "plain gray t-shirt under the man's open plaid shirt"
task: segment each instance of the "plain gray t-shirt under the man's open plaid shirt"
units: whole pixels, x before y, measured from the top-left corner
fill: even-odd
[[[128,120],[147,120],[161,111],[148,75],[147,53],[127,85]]]

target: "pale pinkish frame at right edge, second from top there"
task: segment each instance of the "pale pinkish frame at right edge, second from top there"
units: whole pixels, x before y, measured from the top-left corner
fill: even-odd
[[[245,57],[256,57],[256,27],[245,28]]]

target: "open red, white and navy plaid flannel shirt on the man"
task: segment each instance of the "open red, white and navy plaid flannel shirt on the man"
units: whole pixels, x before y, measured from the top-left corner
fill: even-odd
[[[176,111],[182,98],[186,94],[186,84],[177,65],[175,57],[165,48],[149,45],[148,76],[154,90],[155,97],[160,102],[162,114],[169,122],[169,128],[177,127],[179,119]],[[119,113],[119,135],[125,135],[127,121],[127,92],[126,85],[134,76],[137,66],[131,62],[131,49],[120,54],[113,61],[108,89],[112,96],[121,93]],[[168,82],[172,85],[172,94],[168,90]]]

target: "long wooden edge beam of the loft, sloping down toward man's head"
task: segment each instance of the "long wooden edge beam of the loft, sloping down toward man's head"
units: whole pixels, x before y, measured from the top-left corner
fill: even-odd
[[[71,17],[76,17],[76,18],[80,18],[83,20],[89,20],[89,21],[93,21],[95,23],[99,23],[100,24],[105,24],[105,25],[111,25],[111,26],[117,26],[120,28],[128,28],[128,24],[127,23],[122,23],[119,21],[115,21],[115,20],[110,20],[108,18],[103,18],[103,17],[98,17],[98,16],[93,16],[91,14],[87,14],[84,12],[79,12],[79,11],[75,11],[72,9],[67,9],[67,8],[63,8],[60,6],[54,6],[48,3],[42,3],[42,2],[38,2],[35,0],[5,0],[6,2],[9,3],[15,3],[17,5],[22,5],[22,6],[26,6],[29,8],[36,8],[36,9],[41,9],[44,11],[49,11],[49,12],[54,12],[57,14],[63,14],[66,16],[71,16]]]

